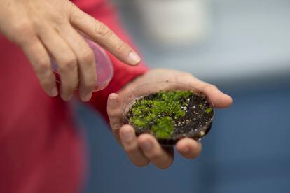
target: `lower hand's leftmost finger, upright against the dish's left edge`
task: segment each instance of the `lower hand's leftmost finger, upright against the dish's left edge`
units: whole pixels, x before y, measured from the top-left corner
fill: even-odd
[[[106,111],[109,116],[113,136],[115,136],[117,141],[120,141],[119,129],[123,126],[123,115],[118,94],[112,93],[109,95]]]

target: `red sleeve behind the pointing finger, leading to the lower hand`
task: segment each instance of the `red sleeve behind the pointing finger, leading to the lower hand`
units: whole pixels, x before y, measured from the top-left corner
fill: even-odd
[[[109,4],[107,1],[102,1],[102,3],[100,3],[100,1],[97,2],[93,0],[90,0],[91,3],[88,3],[88,1],[87,3],[82,2],[83,1],[75,1],[74,3],[76,3],[76,5],[86,13],[92,15],[92,17],[95,17],[97,20],[104,22],[104,24],[108,25],[120,38],[123,39],[123,41],[134,48],[130,38],[128,38],[127,34],[125,33],[125,30],[120,26],[116,9],[113,8],[111,4]],[[90,6],[88,6],[89,4]],[[108,55],[113,64],[114,76],[106,89],[92,94],[92,99],[90,101],[90,104],[94,108],[97,108],[97,110],[99,110],[99,112],[102,113],[102,115],[106,118],[106,120],[108,120],[106,113],[106,100],[109,94],[112,92],[117,92],[120,90],[120,88],[130,82],[130,80],[145,73],[148,70],[143,62],[141,62],[141,64],[138,66],[128,66],[127,64],[120,62],[118,59],[116,59],[116,57],[113,57],[113,55],[111,55],[109,52]]]

